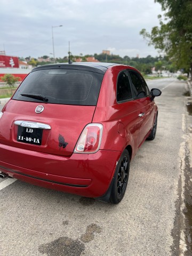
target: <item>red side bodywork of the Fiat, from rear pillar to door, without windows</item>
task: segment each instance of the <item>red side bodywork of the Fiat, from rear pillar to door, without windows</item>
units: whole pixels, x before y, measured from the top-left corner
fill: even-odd
[[[95,109],[93,123],[105,123],[107,133],[106,138],[102,138],[101,147],[111,150],[123,151],[127,145],[132,148],[134,156],[138,148],[148,137],[154,124],[157,113],[157,107],[150,97],[127,101],[123,104],[117,104],[116,101],[116,84],[119,71],[125,66],[109,68],[103,78],[102,87]],[[130,67],[130,69],[135,70]],[[114,93],[111,93],[111,86]],[[139,118],[139,114],[144,112],[145,116]],[[118,124],[123,123],[125,127],[126,139],[119,134]],[[116,140],[114,140],[114,137]],[[115,143],[114,143],[115,142]]]

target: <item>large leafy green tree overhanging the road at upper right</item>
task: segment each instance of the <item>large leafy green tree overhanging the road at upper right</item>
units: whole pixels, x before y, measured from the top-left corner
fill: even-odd
[[[149,39],[149,45],[164,51],[177,68],[190,71],[192,79],[192,1],[191,0],[155,0],[165,11],[161,15],[159,27],[153,27],[151,33],[142,29],[140,34]]]

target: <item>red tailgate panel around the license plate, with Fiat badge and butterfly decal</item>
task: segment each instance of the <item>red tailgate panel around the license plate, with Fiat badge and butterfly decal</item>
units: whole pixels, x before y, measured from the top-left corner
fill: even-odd
[[[34,110],[38,105],[37,102],[27,102],[26,104],[24,101],[11,100],[6,105],[2,116],[0,143],[43,153],[70,156],[82,130],[86,124],[91,123],[95,106],[55,104],[53,107],[52,104],[41,103],[44,106],[44,111],[36,114]],[[80,116],[81,118],[79,118]],[[51,126],[51,130],[44,130],[41,146],[17,141],[18,125],[15,125],[14,122],[18,120],[41,122]],[[59,134],[63,135],[68,143],[68,146],[62,150],[58,150]]]

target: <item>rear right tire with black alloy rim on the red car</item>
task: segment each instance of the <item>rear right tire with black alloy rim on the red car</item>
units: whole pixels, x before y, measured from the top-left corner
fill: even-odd
[[[124,197],[129,179],[129,169],[130,156],[128,150],[125,149],[118,161],[114,174],[114,182],[110,195],[110,202],[113,204],[118,204]]]

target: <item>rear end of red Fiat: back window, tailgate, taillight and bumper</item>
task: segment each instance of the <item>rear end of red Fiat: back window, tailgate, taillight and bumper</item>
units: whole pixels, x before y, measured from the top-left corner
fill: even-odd
[[[92,123],[105,72],[35,68],[0,113],[0,171],[82,196],[105,194],[119,157],[100,148],[103,126]]]

